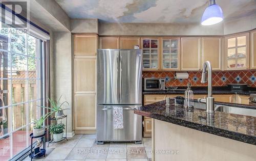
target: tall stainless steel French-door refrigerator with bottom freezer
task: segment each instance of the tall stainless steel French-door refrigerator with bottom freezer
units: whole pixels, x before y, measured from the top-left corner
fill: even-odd
[[[142,140],[141,49],[98,49],[97,144]],[[115,108],[122,108],[123,128],[114,128]]]

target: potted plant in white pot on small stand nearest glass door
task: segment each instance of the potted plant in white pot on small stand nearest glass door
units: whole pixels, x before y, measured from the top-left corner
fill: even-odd
[[[45,120],[47,119],[47,117],[49,116],[50,114],[46,114],[44,116],[41,116],[38,120],[36,119],[33,119],[33,124],[34,124],[34,127],[33,127],[33,136],[34,137],[38,137],[38,136],[41,136],[45,133],[45,126],[43,126],[42,124],[45,122]]]

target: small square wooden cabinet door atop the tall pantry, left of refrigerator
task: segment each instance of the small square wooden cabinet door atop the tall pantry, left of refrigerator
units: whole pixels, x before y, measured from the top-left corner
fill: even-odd
[[[98,35],[74,35],[75,56],[96,56],[98,48]]]

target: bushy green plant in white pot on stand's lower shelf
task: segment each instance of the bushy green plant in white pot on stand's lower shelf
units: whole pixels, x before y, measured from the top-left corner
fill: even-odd
[[[55,142],[62,140],[64,132],[63,129],[65,129],[65,124],[61,122],[56,125],[50,126],[50,133],[53,135],[53,140]]]

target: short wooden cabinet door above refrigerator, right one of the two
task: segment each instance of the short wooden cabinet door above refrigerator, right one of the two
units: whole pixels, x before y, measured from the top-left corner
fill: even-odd
[[[120,49],[134,49],[134,46],[140,46],[139,37],[120,37]]]

